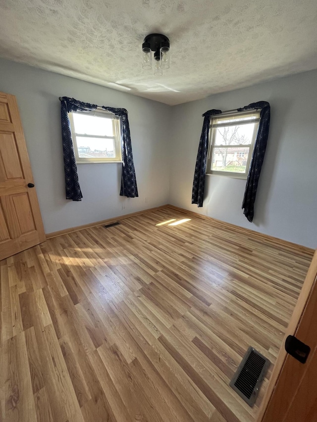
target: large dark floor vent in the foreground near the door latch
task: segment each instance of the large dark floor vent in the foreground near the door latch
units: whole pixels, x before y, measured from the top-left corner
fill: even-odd
[[[268,359],[253,347],[249,347],[230,381],[230,387],[251,407],[256,401],[269,365],[270,361]]]

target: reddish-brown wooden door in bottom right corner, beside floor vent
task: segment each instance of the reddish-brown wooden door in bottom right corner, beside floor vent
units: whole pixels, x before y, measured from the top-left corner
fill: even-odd
[[[258,422],[317,421],[317,251],[287,333],[311,348],[305,364],[279,351]]]

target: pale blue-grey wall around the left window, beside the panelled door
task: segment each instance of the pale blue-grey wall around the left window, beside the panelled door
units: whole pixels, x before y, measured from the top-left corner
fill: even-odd
[[[0,60],[0,91],[17,98],[46,233],[168,203],[169,125],[161,123],[169,122],[169,106],[6,60]],[[121,164],[104,163],[79,164],[83,199],[65,199],[63,95],[128,110],[138,198],[119,196]]]

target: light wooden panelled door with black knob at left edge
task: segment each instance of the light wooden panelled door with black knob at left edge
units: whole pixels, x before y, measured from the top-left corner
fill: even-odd
[[[0,260],[46,240],[14,95],[0,93]]]

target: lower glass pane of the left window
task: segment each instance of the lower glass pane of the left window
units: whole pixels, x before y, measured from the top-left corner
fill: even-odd
[[[114,140],[76,136],[79,158],[114,158]]]

